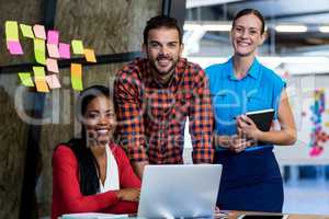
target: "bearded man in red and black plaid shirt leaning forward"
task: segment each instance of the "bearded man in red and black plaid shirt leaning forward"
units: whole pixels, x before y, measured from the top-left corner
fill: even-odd
[[[175,19],[150,19],[143,50],[114,82],[117,134],[139,177],[150,164],[183,163],[184,124],[190,120],[194,163],[211,163],[213,110],[203,69],[181,58],[182,32]]]

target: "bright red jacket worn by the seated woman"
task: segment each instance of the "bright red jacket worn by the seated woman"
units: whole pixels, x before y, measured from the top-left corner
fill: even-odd
[[[117,163],[120,187],[140,187],[140,181],[133,172],[123,149],[114,143],[110,148]],[[137,211],[138,203],[118,200],[113,191],[83,196],[80,192],[78,166],[77,158],[69,147],[60,145],[55,150],[52,219],[73,212],[131,214]]]

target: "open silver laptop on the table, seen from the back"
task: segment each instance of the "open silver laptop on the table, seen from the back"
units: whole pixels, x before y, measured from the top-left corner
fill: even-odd
[[[213,217],[220,175],[220,164],[146,165],[137,216]]]

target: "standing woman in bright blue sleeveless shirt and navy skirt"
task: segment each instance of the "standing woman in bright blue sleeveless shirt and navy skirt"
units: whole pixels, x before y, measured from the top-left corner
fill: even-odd
[[[265,39],[264,19],[254,9],[238,12],[230,33],[234,56],[206,69],[215,114],[215,163],[223,164],[217,206],[281,212],[283,182],[273,145],[296,141],[285,82],[256,58]],[[245,114],[273,108],[280,130],[261,131]],[[259,140],[264,143],[256,145]]]

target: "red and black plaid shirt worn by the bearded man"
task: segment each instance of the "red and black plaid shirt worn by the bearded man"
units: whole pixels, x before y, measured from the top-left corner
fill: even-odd
[[[194,163],[211,163],[213,110],[205,72],[181,58],[167,87],[151,78],[147,59],[116,74],[114,101],[120,143],[131,161],[183,163],[184,124],[190,120]]]

